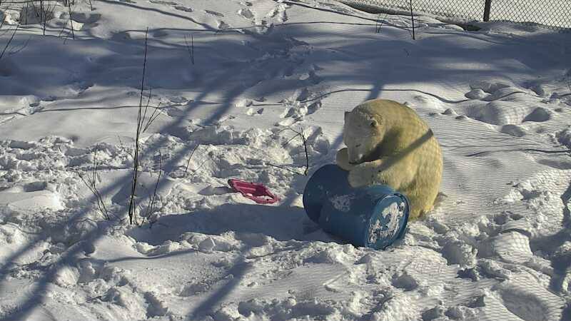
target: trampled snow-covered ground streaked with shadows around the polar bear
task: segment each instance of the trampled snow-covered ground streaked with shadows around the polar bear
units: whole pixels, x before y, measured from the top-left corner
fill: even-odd
[[[0,59],[1,320],[571,320],[567,34],[421,16],[413,41],[406,16],[375,33],[377,15],[328,0],[91,4],[71,22],[56,6],[46,36],[21,25]],[[1,6],[0,49],[18,6]],[[162,175],[138,227],[147,27],[143,105],[160,116],[141,213]],[[284,129],[303,129],[313,173],[370,98],[415,108],[445,158],[437,208],[384,251],[306,217],[303,143]],[[94,163],[110,220],[79,176]]]

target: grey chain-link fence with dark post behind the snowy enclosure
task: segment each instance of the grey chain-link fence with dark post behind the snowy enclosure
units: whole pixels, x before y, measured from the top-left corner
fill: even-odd
[[[389,13],[410,12],[410,0],[342,0],[348,4],[373,6]],[[514,21],[571,30],[571,0],[413,0],[415,13],[458,17],[476,21]],[[487,18],[487,17],[486,17]]]

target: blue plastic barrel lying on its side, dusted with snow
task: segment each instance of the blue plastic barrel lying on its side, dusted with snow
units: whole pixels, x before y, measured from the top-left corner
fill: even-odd
[[[355,246],[384,249],[403,237],[410,205],[386,185],[352,188],[338,165],[319,168],[303,191],[305,213],[325,232]]]

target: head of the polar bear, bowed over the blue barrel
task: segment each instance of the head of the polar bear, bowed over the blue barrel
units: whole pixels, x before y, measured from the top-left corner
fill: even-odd
[[[349,163],[374,161],[384,136],[383,118],[380,115],[356,108],[345,112],[343,143],[347,146]]]

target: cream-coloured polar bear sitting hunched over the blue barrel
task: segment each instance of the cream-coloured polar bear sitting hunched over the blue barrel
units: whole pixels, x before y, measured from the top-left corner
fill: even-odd
[[[384,99],[365,101],[345,112],[343,142],[336,162],[349,170],[353,187],[384,184],[410,200],[409,218],[432,210],[443,171],[433,131],[413,109]]]

